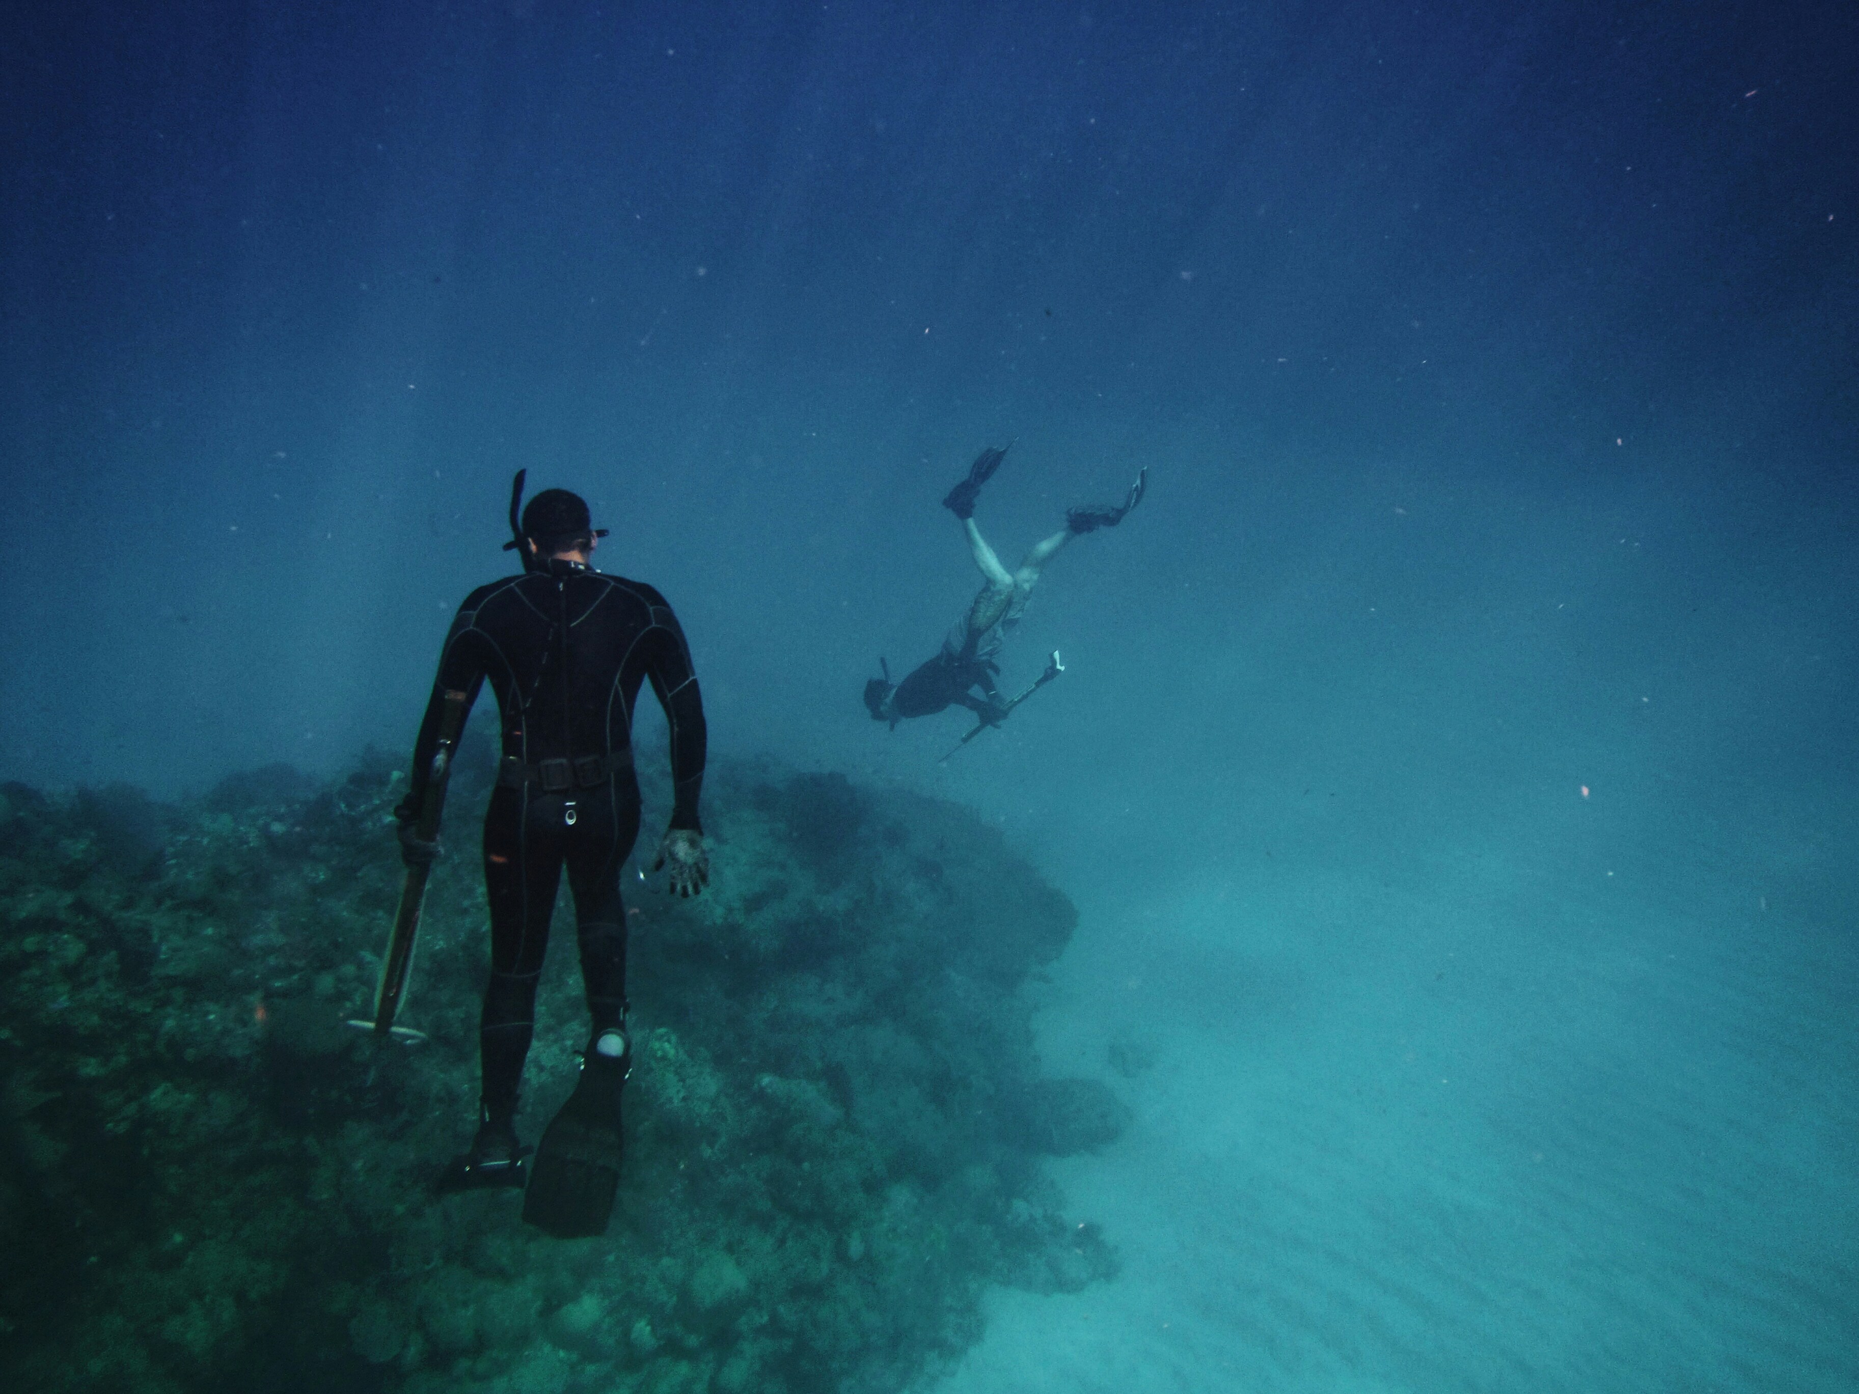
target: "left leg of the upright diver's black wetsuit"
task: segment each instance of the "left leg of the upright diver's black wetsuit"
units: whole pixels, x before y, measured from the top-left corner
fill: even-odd
[[[535,1035],[535,987],[561,885],[561,799],[498,788],[483,820],[483,881],[491,901],[491,981],[478,1024],[483,1113],[517,1113],[522,1061]]]

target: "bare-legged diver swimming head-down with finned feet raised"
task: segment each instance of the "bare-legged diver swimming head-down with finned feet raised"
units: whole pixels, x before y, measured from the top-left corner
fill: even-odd
[[[961,519],[963,533],[969,537],[969,552],[980,567],[985,584],[974,597],[969,610],[943,639],[943,651],[903,678],[892,684],[889,671],[881,678],[864,684],[864,706],[874,721],[889,721],[896,729],[898,721],[913,716],[933,716],[950,706],[967,706],[982,721],[998,725],[1006,719],[1008,704],[995,688],[1000,665],[995,654],[1006,639],[1006,632],[1021,623],[1026,600],[1039,580],[1045,563],[1058,556],[1073,537],[1115,528],[1123,517],[1141,502],[1149,483],[1149,470],[1136,474],[1130,494],[1123,504],[1088,506],[1065,511],[1065,526],[1047,537],[1024,556],[1019,571],[1008,571],[995,556],[995,548],[974,526],[974,502],[982,485],[1000,468],[1006,450],[987,448],[976,455],[969,467],[969,478],[948,491],[943,507]],[[976,695],[976,690],[980,695]]]

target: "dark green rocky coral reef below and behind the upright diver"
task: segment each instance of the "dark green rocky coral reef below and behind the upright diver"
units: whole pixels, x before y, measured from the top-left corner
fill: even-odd
[[[400,775],[260,769],[186,807],[0,790],[0,1381],[33,1390],[898,1390],[991,1282],[1114,1271],[1041,1154],[1115,1136],[1039,1080],[1028,974],[1075,911],[965,810],[714,769],[710,894],[628,885],[628,1171],[602,1240],[431,1178],[476,1108],[467,745],[403,1020],[363,1015]],[[664,790],[649,788],[649,809]],[[524,1136],[586,1013],[556,918]]]

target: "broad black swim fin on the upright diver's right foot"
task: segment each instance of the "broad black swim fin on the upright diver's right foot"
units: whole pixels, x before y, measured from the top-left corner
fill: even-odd
[[[589,1046],[574,1093],[530,1158],[522,1217],[560,1240],[606,1234],[619,1191],[619,1089],[632,1071],[632,1043],[621,1056]]]

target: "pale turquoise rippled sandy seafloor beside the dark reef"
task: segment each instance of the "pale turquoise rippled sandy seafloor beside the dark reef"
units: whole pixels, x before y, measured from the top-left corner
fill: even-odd
[[[1125,1269],[996,1292],[941,1394],[1859,1388],[1837,849],[1692,822],[1075,885],[1041,1045],[1136,1110],[1060,1165]]]

